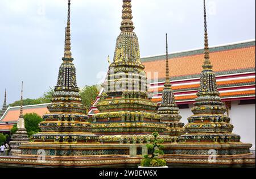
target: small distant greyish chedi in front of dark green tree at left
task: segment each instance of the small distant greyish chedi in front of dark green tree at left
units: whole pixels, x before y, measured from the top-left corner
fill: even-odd
[[[19,119],[17,122],[17,128],[18,130],[11,136],[11,155],[19,155],[21,153],[20,145],[22,143],[27,143],[28,136],[27,136],[27,130],[25,128],[25,121],[23,119],[23,82],[22,82],[22,90],[21,90],[21,97],[20,97],[20,113],[19,113]]]

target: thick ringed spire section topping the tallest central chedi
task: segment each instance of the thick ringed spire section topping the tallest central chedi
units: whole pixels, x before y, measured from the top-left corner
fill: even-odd
[[[122,22],[120,29],[123,31],[133,31],[133,11],[131,10],[131,0],[123,0],[123,10],[122,10]]]

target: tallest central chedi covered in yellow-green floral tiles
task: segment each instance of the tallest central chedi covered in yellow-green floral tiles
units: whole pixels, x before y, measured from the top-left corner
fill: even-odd
[[[100,113],[93,116],[93,132],[104,135],[101,136],[104,142],[142,142],[147,134],[163,132],[165,128],[156,114],[156,103],[148,97],[146,73],[131,13],[131,0],[123,0],[121,34],[104,83],[104,93],[97,104]]]

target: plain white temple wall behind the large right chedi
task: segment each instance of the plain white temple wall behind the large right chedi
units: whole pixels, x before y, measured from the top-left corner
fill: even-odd
[[[234,134],[241,136],[241,141],[244,143],[251,143],[253,147],[251,150],[255,150],[255,104],[253,105],[238,105],[240,101],[233,101],[229,115],[231,123],[234,125]],[[189,109],[180,109],[180,115],[182,116],[181,122],[188,123],[187,118],[193,113],[191,107]]]

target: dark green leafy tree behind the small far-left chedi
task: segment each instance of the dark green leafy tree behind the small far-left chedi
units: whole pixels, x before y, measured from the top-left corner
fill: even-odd
[[[38,114],[28,113],[25,114],[23,118],[25,120],[25,128],[27,130],[28,137],[41,131],[38,124],[43,121],[43,118],[41,118]],[[11,128],[11,134],[15,134],[17,130],[18,128],[15,124],[13,128]]]

